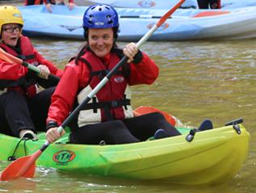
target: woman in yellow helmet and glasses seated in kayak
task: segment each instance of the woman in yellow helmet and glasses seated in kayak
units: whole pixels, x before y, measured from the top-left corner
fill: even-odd
[[[40,69],[39,76],[23,65],[0,57],[0,132],[18,137],[36,138],[36,129],[44,130],[48,106],[53,92],[52,82],[45,81],[49,73],[58,76],[57,69],[33,48],[21,34],[23,18],[15,6],[0,6],[0,48]],[[37,84],[51,87],[39,92]]]

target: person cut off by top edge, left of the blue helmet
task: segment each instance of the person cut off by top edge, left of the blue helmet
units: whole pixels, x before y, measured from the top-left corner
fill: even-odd
[[[31,5],[39,5],[39,4],[45,4],[46,9],[52,13],[52,5],[65,5],[64,0],[26,0],[25,6],[31,6]],[[69,0],[68,3],[69,10],[73,9],[73,6],[75,6],[74,0]]]

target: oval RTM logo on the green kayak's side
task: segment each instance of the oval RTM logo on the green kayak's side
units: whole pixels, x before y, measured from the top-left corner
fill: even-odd
[[[58,164],[67,164],[68,162],[73,161],[74,157],[76,157],[76,153],[70,150],[61,150],[57,153],[54,153],[52,160],[57,162]]]

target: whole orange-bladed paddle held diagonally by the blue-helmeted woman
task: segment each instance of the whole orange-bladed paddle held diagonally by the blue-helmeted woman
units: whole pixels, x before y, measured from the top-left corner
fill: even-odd
[[[175,10],[178,9],[179,6],[181,6],[185,2],[185,0],[181,0],[178,2],[171,10],[169,10],[165,15],[162,16],[161,19],[155,24],[146,34],[139,40],[139,42],[136,44],[136,47],[139,48],[141,44],[145,43],[146,40],[149,39],[150,36],[152,36],[153,32],[157,30],[158,27],[162,25],[170,17],[171,14],[174,13]],[[61,124],[61,126],[58,128],[58,132],[62,132],[62,130],[69,124],[69,122],[73,119],[75,115],[78,114],[78,112],[84,107],[86,103],[92,99],[92,97],[98,93],[98,91],[109,81],[111,76],[117,72],[118,69],[122,65],[124,65],[128,61],[128,57],[123,57],[120,62],[115,65],[113,69],[109,73],[107,73],[106,77],[103,78],[101,82],[94,88],[94,90],[91,90],[90,94],[86,97],[86,99],[78,105],[74,109],[74,111],[68,116],[68,118]],[[19,177],[30,177],[32,178],[34,174],[31,174],[32,172],[28,172],[28,170],[31,170],[31,168],[35,168],[35,162],[38,157],[40,157],[40,154],[44,152],[44,150],[50,145],[48,141],[45,141],[44,145],[36,151],[36,153],[31,154],[30,156],[26,157],[20,157],[15,162],[12,162],[9,166],[6,167],[5,170],[3,170],[1,175],[1,180],[11,180]]]

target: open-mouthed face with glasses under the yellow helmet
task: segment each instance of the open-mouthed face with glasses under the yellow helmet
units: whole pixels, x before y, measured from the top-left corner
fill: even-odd
[[[21,33],[21,26],[15,23],[2,25],[1,36],[5,44],[15,47]]]

